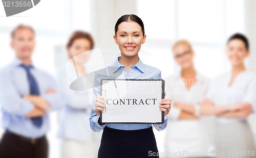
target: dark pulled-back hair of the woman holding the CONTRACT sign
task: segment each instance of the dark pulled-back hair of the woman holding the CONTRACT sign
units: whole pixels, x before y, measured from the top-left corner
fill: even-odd
[[[121,16],[117,21],[116,21],[116,25],[115,25],[115,35],[116,35],[116,32],[118,30],[118,25],[121,23],[121,22],[125,22],[125,21],[134,21],[134,22],[137,22],[140,27],[141,27],[141,30],[142,30],[142,34],[144,36],[145,34],[145,31],[144,31],[144,24],[142,22],[142,20],[137,16],[137,15],[134,15],[134,14],[126,14],[126,15],[123,15]]]

